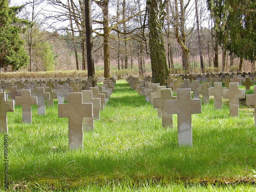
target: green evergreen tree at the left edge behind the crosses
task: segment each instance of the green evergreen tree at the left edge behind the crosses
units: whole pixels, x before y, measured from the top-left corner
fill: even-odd
[[[19,34],[26,23],[16,17],[23,7],[9,7],[8,0],[0,0],[0,68],[11,66],[12,70],[26,67],[29,57]]]

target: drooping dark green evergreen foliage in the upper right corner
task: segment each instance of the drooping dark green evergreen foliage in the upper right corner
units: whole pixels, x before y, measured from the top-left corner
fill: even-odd
[[[230,53],[256,60],[256,3],[252,0],[207,0],[208,9],[219,23],[215,28],[220,44]]]

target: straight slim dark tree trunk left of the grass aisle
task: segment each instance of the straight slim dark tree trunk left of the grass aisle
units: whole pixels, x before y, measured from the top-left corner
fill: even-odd
[[[93,59],[93,31],[92,31],[92,12],[91,0],[85,2],[85,19],[86,19],[86,51],[87,51],[87,69],[88,77],[92,77],[92,86],[96,86],[94,59]]]

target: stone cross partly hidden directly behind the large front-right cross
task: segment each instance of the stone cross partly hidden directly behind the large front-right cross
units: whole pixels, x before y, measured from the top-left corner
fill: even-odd
[[[173,127],[173,114],[167,114],[167,100],[176,99],[172,89],[161,89],[161,97],[154,98],[154,108],[161,109],[163,127]]]

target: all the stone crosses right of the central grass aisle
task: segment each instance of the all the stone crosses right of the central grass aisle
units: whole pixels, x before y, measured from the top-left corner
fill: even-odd
[[[253,80],[252,80],[253,79]],[[239,116],[239,99],[245,98],[245,90],[239,89],[243,84],[250,90],[253,81],[256,83],[255,73],[243,74],[180,74],[170,75],[165,80],[166,86],[152,83],[152,77],[127,77],[132,89],[144,95],[158,110],[158,117],[162,118],[163,127],[173,127],[173,114],[178,114],[178,143],[192,145],[191,114],[202,112],[203,104],[209,103],[209,96],[214,96],[215,109],[222,109],[222,98],[229,99],[230,116]],[[192,81],[192,82],[191,82]],[[202,81],[202,84],[201,84]],[[225,87],[222,87],[225,83]],[[191,99],[191,91],[194,98]],[[173,96],[173,92],[177,96]],[[246,95],[247,105],[256,105],[256,86],[254,93]],[[254,123],[256,125],[254,108]]]

